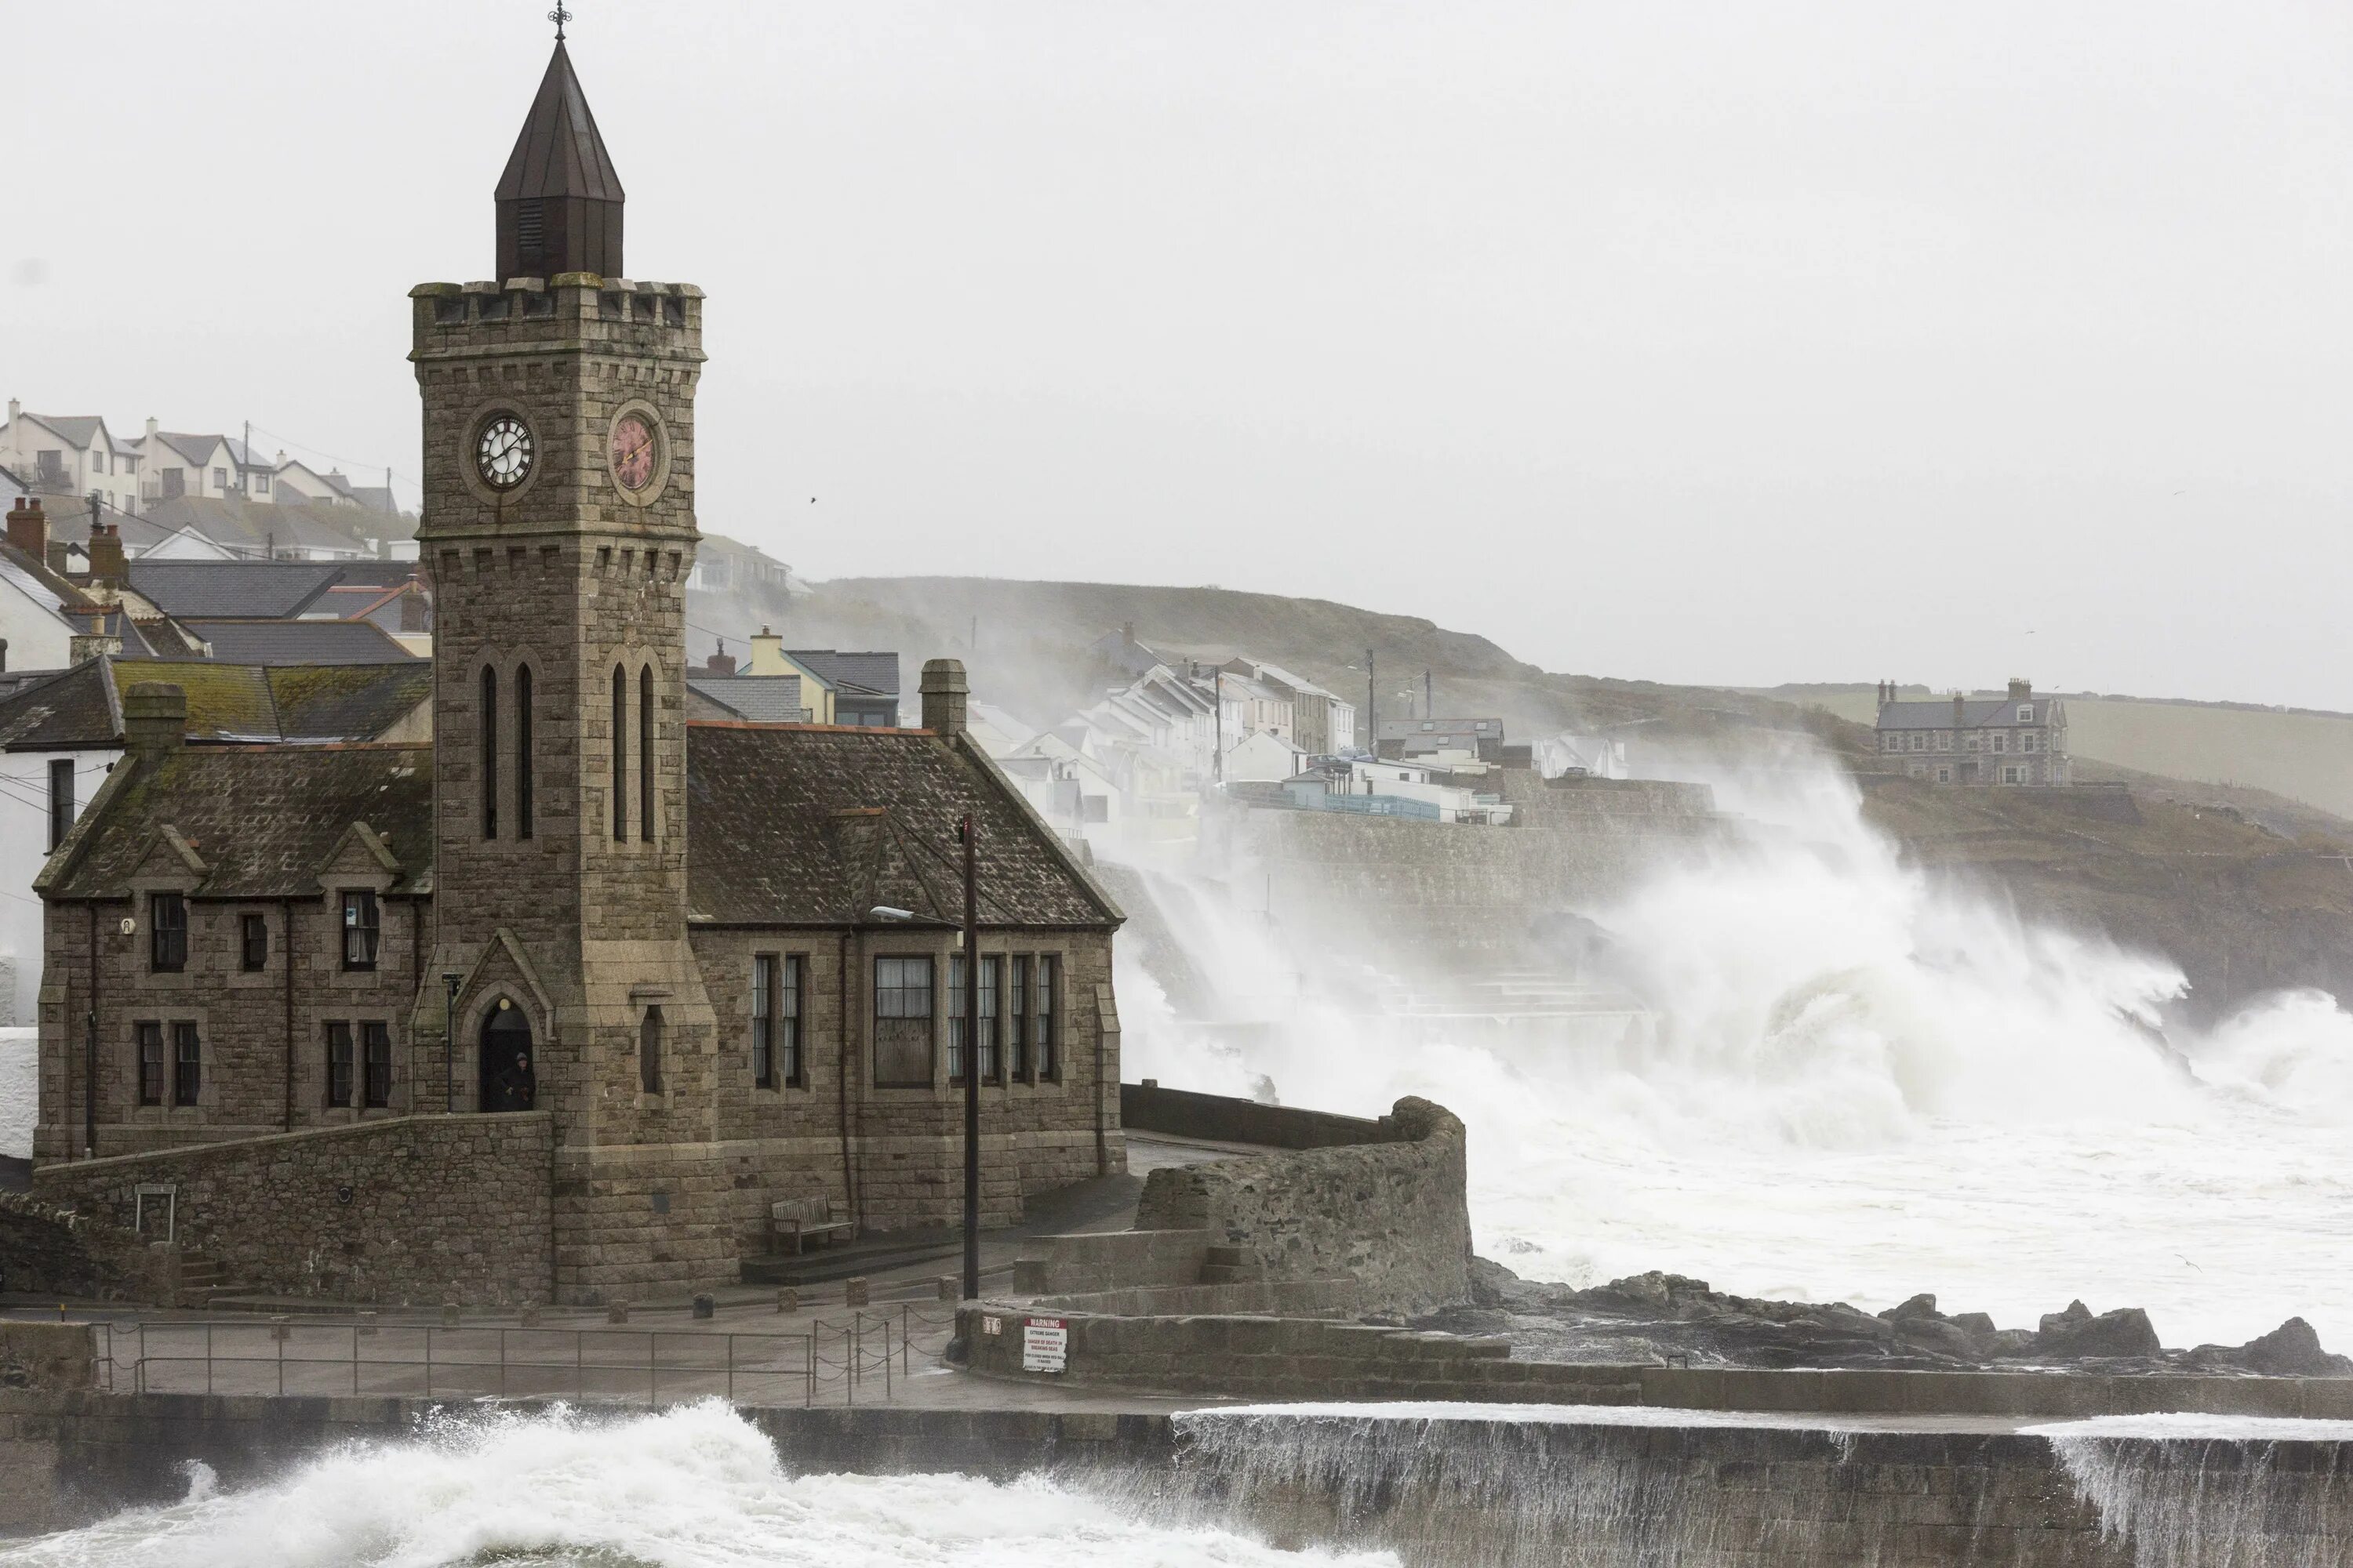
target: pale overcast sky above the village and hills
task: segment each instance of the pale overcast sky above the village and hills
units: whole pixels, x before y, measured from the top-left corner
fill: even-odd
[[[551,2],[9,5],[0,395],[414,475]],[[701,522],[805,576],[2353,708],[2344,5],[574,9]]]

